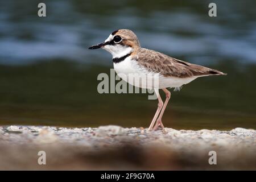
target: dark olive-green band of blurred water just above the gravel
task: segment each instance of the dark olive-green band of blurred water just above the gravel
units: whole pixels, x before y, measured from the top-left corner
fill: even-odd
[[[172,92],[164,124],[177,129],[255,128],[256,66],[214,65],[228,76],[199,78]],[[157,107],[147,94],[99,94],[97,75],[109,67],[52,60],[1,66],[1,125],[147,127]],[[246,74],[245,74],[246,73]],[[163,96],[163,95],[162,95]]]

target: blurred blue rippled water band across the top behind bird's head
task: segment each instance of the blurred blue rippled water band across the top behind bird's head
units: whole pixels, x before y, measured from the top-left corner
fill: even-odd
[[[256,63],[253,1],[184,3],[135,1],[46,1],[47,17],[37,16],[34,1],[0,3],[0,63],[27,64],[56,58],[110,64],[105,51],[88,47],[110,32],[129,28],[141,45],[193,63],[236,60]],[[155,3],[155,5],[154,5]]]

